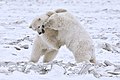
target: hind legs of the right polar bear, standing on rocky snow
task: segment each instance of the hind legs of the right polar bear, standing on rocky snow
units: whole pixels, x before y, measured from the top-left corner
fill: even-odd
[[[89,44],[89,41],[80,41],[77,44],[78,45],[73,44],[72,46],[68,46],[68,49],[73,52],[76,62],[79,63],[85,61],[88,63],[95,63],[96,60],[93,45]]]

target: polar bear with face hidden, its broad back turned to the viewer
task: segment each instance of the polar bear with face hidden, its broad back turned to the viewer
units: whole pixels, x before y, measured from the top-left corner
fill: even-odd
[[[66,45],[73,52],[77,62],[95,62],[92,39],[73,15],[68,12],[55,13],[50,16],[45,26],[58,30],[60,44]]]

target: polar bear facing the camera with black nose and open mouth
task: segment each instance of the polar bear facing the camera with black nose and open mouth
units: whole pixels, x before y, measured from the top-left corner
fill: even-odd
[[[58,31],[50,28],[44,30],[44,22],[54,13],[66,12],[65,9],[57,9],[55,11],[49,11],[35,18],[29,28],[37,31],[38,34],[33,42],[33,49],[30,61],[37,62],[41,56],[44,55],[43,62],[50,62],[56,56],[60,46],[57,40]],[[45,32],[45,33],[44,33]],[[44,33],[44,34],[42,34]]]

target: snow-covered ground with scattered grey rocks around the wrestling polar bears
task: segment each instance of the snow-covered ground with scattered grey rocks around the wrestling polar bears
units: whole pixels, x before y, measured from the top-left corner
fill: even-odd
[[[28,62],[36,34],[29,24],[57,8],[73,13],[90,33],[97,65],[76,64],[65,46],[57,61]],[[0,80],[120,80],[119,25],[120,0],[0,0]]]

